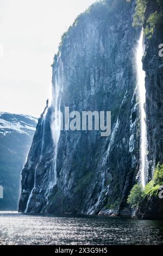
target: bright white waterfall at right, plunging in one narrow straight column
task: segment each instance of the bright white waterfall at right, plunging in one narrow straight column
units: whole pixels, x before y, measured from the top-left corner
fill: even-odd
[[[142,57],[144,55],[144,44],[143,44],[143,29],[141,31],[140,39],[138,41],[136,50],[136,70],[137,70],[137,89],[139,94],[140,102],[140,174],[141,174],[141,184],[145,188],[147,182],[147,172],[148,172],[148,159],[147,159],[147,126],[146,126],[146,87],[145,87],[145,77],[146,73],[143,71]]]

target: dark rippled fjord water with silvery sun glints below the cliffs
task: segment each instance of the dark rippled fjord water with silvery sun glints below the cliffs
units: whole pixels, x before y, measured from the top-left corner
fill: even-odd
[[[161,245],[163,221],[0,212],[0,245]]]

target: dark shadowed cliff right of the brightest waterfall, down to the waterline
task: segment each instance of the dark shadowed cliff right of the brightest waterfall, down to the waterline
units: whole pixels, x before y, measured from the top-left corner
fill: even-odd
[[[161,1],[159,1],[162,5]],[[163,5],[162,5],[163,7]],[[144,28],[148,17],[155,13],[162,14],[162,9],[156,1],[148,1]],[[163,22],[160,21],[151,36],[145,37],[145,56],[143,69],[146,71],[146,114],[148,134],[148,181],[153,178],[158,162],[163,163],[163,57],[159,56],[159,45],[163,43]],[[143,200],[137,210],[140,218],[163,218],[163,199],[149,197]]]

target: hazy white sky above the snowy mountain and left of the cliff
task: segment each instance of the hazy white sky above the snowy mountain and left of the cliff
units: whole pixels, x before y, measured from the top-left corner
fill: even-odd
[[[40,116],[61,35],[93,2],[0,0],[0,112]]]

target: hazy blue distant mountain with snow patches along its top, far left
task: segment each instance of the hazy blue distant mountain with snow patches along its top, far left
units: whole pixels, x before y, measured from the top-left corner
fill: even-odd
[[[0,112],[0,211],[17,210],[21,169],[32,144],[37,119],[30,115]]]

